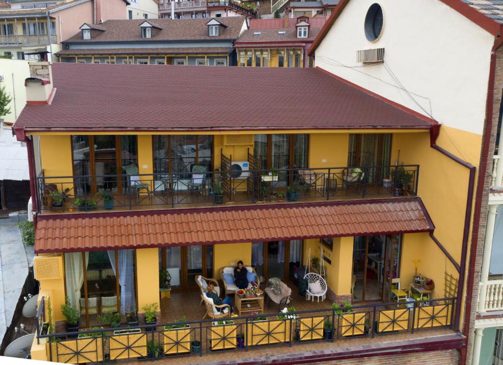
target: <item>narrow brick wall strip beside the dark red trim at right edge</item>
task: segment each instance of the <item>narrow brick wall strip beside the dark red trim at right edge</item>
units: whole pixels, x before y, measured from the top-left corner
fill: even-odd
[[[495,72],[495,82],[494,82],[494,97],[493,97],[493,109],[492,109],[492,129],[491,138],[489,142],[489,155],[487,156],[487,168],[485,171],[484,180],[484,192],[482,194],[482,206],[480,210],[480,224],[477,239],[477,250],[475,252],[475,266],[474,266],[474,276],[473,276],[473,292],[468,293],[467,301],[471,300],[472,306],[470,311],[470,322],[469,322],[469,337],[466,347],[466,363],[471,364],[471,356],[473,350],[473,338],[474,338],[474,323],[475,315],[477,312],[478,305],[478,293],[479,293],[479,281],[480,281],[480,269],[482,266],[482,256],[484,254],[484,237],[485,237],[485,227],[487,223],[487,209],[489,201],[489,185],[492,173],[492,156],[494,154],[494,144],[496,141],[497,124],[499,118],[499,106],[501,103],[501,87],[503,85],[503,49],[499,48],[496,52],[496,72]],[[487,123],[487,121],[485,121]],[[471,253],[470,253],[471,254]]]

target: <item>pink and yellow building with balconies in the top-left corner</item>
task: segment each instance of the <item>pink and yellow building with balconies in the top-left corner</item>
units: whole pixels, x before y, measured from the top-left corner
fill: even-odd
[[[0,7],[0,54],[51,61],[84,22],[125,19],[128,0],[8,0]]]

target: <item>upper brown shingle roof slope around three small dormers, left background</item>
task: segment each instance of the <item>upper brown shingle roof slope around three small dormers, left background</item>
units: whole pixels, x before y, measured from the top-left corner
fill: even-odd
[[[82,39],[81,33],[64,42],[124,42],[124,41],[175,41],[175,40],[208,40],[208,39],[236,39],[243,26],[244,17],[219,18],[218,21],[225,24],[227,28],[221,27],[219,36],[209,36],[208,28],[205,25],[210,19],[148,19],[149,23],[159,26],[162,29],[154,29],[152,38],[141,38],[139,25],[145,19],[107,20],[100,26],[105,29],[93,39]]]

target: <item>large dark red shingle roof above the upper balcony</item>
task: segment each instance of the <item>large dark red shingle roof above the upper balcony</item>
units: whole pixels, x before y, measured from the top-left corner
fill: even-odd
[[[54,63],[52,74],[52,104],[27,105],[16,127],[187,131],[437,124],[313,68]],[[166,85],[175,85],[174,92]]]

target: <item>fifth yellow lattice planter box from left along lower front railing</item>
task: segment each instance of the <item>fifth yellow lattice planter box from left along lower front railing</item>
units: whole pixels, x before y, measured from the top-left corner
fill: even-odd
[[[321,327],[323,328],[323,326]],[[292,337],[292,320],[277,319],[249,322],[245,337],[248,346],[289,342]]]

